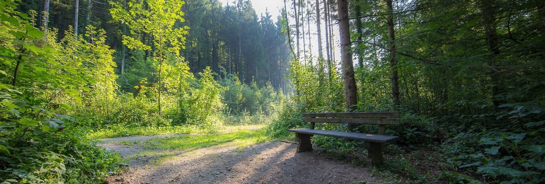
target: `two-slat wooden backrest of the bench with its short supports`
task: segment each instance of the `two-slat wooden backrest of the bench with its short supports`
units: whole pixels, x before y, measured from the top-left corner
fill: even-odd
[[[399,125],[399,112],[361,112],[361,113],[303,113],[302,121],[310,122],[314,129],[315,122],[340,124],[375,124],[379,125],[379,134],[386,134],[386,125]]]

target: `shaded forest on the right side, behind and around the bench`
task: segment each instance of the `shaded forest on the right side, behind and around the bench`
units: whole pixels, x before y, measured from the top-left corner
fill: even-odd
[[[401,125],[387,134],[400,136],[402,148],[386,150],[437,155],[423,171],[415,170],[411,164],[418,163],[410,156],[392,157],[385,168],[390,174],[394,170],[426,183],[542,183],[544,5],[531,0],[284,1],[295,56],[289,78],[296,95],[271,125],[273,133],[308,127],[302,113],[399,111]],[[308,45],[311,35],[305,30],[317,30],[325,46]],[[337,33],[341,60],[331,50],[336,41],[331,34]],[[301,53],[308,48],[317,49],[318,56]],[[316,129],[378,132],[372,125],[316,124]],[[364,149],[364,142],[347,139],[318,136],[313,142],[339,155]],[[435,168],[443,170],[441,179],[430,178],[430,167],[441,163],[448,165]]]

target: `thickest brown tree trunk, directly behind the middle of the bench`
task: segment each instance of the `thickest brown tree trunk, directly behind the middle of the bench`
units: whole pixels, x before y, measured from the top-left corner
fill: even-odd
[[[350,24],[348,17],[347,0],[337,0],[339,36],[341,37],[341,58],[344,79],[344,96],[346,108],[353,109],[358,103],[358,92],[354,79],[354,65],[352,62],[352,44],[350,43]]]

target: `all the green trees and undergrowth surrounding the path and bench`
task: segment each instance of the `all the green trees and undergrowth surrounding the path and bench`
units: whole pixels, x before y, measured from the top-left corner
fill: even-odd
[[[101,138],[293,139],[302,113],[396,111],[380,177],[545,182],[545,2],[276,1],[276,20],[249,0],[0,1],[0,181],[101,183],[127,165]],[[312,142],[365,163],[364,142]]]

